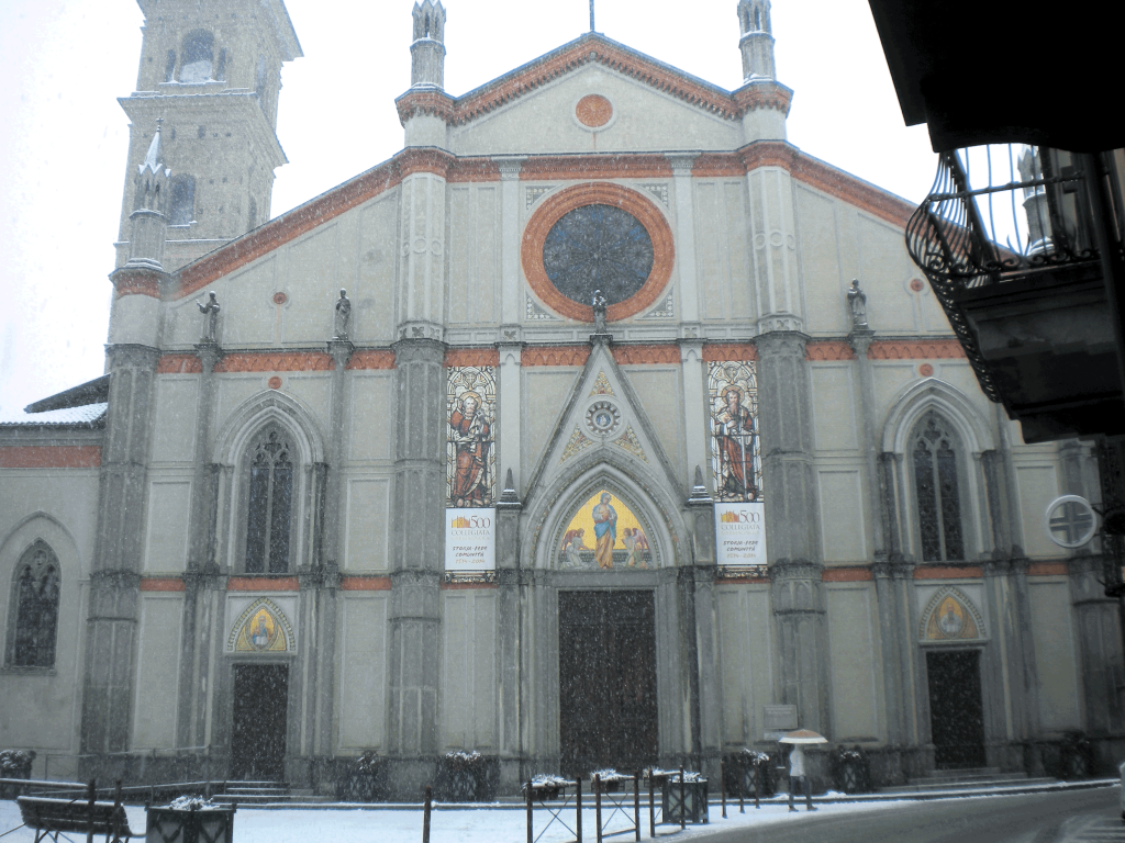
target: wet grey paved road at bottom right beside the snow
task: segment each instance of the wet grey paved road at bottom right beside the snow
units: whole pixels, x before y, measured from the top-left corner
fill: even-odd
[[[1119,788],[896,803],[792,815],[792,824],[709,834],[708,843],[1125,843]]]

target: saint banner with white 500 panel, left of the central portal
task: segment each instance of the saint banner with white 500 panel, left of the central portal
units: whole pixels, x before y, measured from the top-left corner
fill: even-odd
[[[496,368],[449,366],[446,570],[496,568]]]

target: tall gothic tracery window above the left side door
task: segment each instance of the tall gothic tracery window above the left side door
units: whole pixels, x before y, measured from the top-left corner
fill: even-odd
[[[249,453],[246,573],[286,573],[292,533],[295,471],[289,437],[278,428]]]

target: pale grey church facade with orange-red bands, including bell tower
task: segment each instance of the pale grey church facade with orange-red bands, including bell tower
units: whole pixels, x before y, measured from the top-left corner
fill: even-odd
[[[1101,560],[1045,526],[1091,448],[981,392],[912,206],[786,143],[768,0],[734,92],[592,31],[461,97],[425,0],[403,151],[264,223],[284,3],[141,6],[107,373],[0,426],[36,774],[1119,754]]]

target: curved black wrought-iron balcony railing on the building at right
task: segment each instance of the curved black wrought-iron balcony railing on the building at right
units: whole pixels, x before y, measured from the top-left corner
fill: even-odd
[[[1088,181],[1061,149],[990,145],[939,155],[934,187],[907,224],[984,393],[1001,396],[962,308],[969,290],[1098,264]]]

